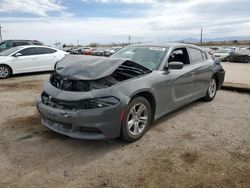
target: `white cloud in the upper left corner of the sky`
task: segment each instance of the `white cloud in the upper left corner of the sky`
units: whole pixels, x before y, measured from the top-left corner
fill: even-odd
[[[65,13],[66,7],[55,0],[2,0],[0,12],[27,13],[35,16],[48,16],[48,13]]]

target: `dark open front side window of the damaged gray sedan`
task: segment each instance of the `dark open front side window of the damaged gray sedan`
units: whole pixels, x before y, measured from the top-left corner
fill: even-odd
[[[178,61],[182,62],[184,65],[190,64],[188,52],[186,48],[177,48],[172,51],[168,63]]]

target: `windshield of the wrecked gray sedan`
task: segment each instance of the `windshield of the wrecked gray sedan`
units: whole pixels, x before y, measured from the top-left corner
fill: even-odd
[[[156,70],[159,68],[167,50],[167,48],[162,47],[128,46],[116,52],[111,58],[129,59],[150,70]]]

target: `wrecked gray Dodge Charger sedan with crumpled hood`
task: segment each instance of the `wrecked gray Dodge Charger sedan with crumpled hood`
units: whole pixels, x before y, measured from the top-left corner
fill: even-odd
[[[68,55],[37,99],[42,123],[72,138],[140,139],[150,123],[192,101],[211,101],[225,72],[198,46],[138,44],[110,58]]]

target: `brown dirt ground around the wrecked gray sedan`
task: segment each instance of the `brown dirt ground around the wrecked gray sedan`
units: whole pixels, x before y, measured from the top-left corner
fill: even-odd
[[[219,91],[138,142],[84,141],[40,124],[48,75],[0,81],[0,187],[250,187],[250,95]]]

